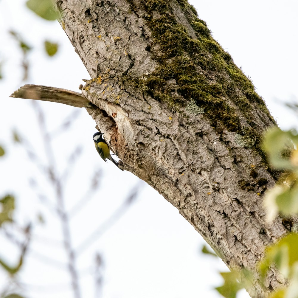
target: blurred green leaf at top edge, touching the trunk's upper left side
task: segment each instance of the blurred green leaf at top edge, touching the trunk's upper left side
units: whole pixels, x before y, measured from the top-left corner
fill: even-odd
[[[60,18],[60,13],[55,9],[52,0],[28,0],[26,5],[40,17],[55,21]]]

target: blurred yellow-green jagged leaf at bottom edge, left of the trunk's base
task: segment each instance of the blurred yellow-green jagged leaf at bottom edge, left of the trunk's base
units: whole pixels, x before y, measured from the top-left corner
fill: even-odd
[[[220,274],[224,278],[224,285],[215,290],[226,298],[236,298],[237,292],[243,288],[243,285],[238,282],[240,274],[237,271],[220,272]]]

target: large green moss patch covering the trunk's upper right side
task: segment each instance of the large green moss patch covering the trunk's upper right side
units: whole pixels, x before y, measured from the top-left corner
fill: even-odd
[[[128,2],[134,10],[133,1]],[[177,23],[167,1],[142,1],[148,12],[145,18],[151,28],[151,38],[160,49],[152,52],[159,66],[136,84],[141,84],[144,92],[167,103],[170,108],[188,107],[195,114],[204,112],[219,133],[223,129],[236,132],[244,147],[254,147],[266,159],[260,134],[254,126],[243,127],[235,109],[235,106],[240,109],[249,125],[253,125],[250,119],[256,107],[274,123],[265,103],[254,91],[252,81],[212,38],[206,22],[198,18],[195,9],[186,0],[178,0],[178,3],[195,30],[196,38],[190,37],[187,29]],[[157,17],[153,17],[156,16],[154,11],[158,13]],[[167,89],[166,81],[169,79],[176,80],[180,97],[173,96],[175,92]],[[235,91],[238,89],[241,92]],[[233,104],[224,98],[229,98]]]

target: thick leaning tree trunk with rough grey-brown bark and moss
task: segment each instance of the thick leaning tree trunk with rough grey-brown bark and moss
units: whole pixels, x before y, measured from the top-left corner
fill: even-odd
[[[122,168],[178,208],[229,268],[255,269],[287,229],[265,221],[276,174],[260,143],[276,123],[251,81],[186,0],[56,2],[93,78],[86,110]],[[284,282],[271,268],[247,291],[268,297]]]

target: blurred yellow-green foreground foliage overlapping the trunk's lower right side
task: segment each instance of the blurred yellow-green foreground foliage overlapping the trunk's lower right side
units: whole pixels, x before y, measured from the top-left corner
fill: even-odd
[[[264,137],[263,148],[271,167],[283,171],[276,185],[264,196],[267,220],[272,221],[280,215],[291,222],[298,213],[298,133],[271,128]],[[258,264],[261,278],[265,279],[267,271],[274,267],[288,280],[288,286],[273,291],[269,298],[298,297],[298,225],[291,224],[290,230],[288,235],[266,249],[264,259]],[[224,285],[216,290],[226,298],[235,298],[240,289],[249,286],[252,273],[232,270],[220,274]]]

